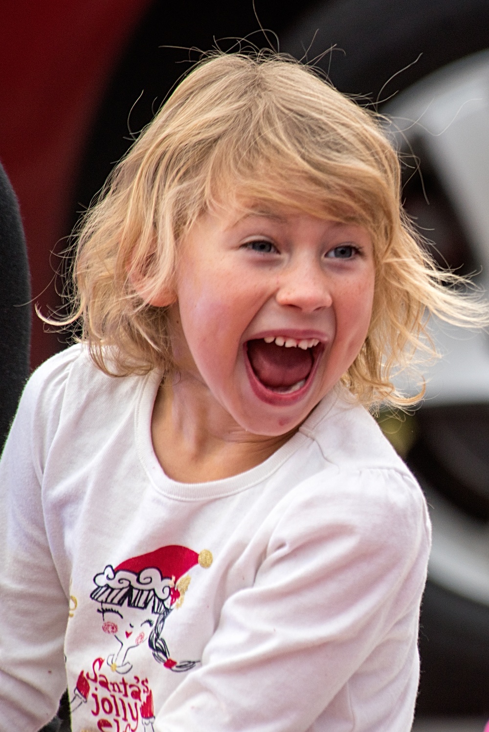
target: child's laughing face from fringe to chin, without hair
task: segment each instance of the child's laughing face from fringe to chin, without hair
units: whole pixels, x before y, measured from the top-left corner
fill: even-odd
[[[287,209],[206,213],[182,242],[176,364],[245,430],[285,434],[359,353],[375,275],[357,225]]]

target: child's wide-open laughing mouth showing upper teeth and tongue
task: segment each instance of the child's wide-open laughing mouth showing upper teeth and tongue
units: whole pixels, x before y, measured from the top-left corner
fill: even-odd
[[[268,392],[283,397],[299,396],[299,392],[305,389],[323,349],[324,344],[317,338],[296,340],[281,335],[245,343],[248,370],[255,380]]]

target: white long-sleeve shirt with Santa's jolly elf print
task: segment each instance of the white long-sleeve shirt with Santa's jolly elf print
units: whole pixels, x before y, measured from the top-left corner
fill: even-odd
[[[68,685],[73,732],[408,732],[430,527],[374,420],[329,395],[264,463],[185,484],[152,449],[159,381],[74,346],[26,386],[0,730],[36,731]]]

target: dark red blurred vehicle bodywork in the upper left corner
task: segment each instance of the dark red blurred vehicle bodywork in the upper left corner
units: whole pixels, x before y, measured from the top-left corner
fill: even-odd
[[[149,0],[0,3],[0,159],[18,196],[32,296],[59,307],[54,270],[70,233],[70,202],[94,113]],[[59,351],[32,321],[32,362]]]

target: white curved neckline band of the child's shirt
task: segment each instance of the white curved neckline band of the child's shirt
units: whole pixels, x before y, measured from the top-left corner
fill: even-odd
[[[210,480],[200,483],[184,483],[173,480],[165,474],[163,467],[154,452],[151,436],[151,418],[156,399],[157,391],[161,382],[161,374],[152,371],[148,376],[143,377],[141,390],[135,404],[135,444],[138,458],[146,474],[158,492],[170,498],[180,501],[202,501],[206,498],[223,498],[240,493],[242,490],[252,488],[260,482],[269,478],[285,460],[302,447],[302,445],[313,439],[312,431],[318,423],[324,419],[326,414],[337,400],[337,395],[330,392],[311,412],[304,424],[285,444],[279,447],[263,463],[250,468],[243,473],[232,475],[228,478]],[[303,428],[305,428],[304,431]]]

